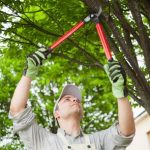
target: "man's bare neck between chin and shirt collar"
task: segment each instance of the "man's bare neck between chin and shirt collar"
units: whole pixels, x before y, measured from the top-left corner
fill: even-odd
[[[67,134],[70,134],[73,137],[76,137],[80,134],[80,119],[69,118],[67,120],[61,120],[59,124],[61,129],[65,130]]]

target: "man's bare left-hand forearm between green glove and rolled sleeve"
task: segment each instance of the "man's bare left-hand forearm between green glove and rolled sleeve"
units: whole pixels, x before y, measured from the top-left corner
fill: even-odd
[[[25,108],[29,97],[31,81],[31,78],[26,76],[22,76],[19,81],[10,104],[10,111],[12,115],[21,112]]]

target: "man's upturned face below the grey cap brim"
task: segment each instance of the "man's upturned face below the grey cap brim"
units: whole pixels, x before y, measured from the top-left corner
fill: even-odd
[[[65,95],[61,98],[58,103],[57,114],[59,118],[69,118],[69,117],[83,117],[83,107],[80,100],[72,95]]]

